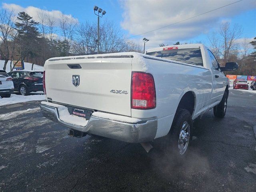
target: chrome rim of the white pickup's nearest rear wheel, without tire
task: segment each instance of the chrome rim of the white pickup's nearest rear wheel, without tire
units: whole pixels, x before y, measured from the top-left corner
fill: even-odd
[[[181,155],[183,155],[187,148],[188,142],[190,138],[190,126],[187,121],[182,124],[182,128],[180,129],[180,135],[178,140],[178,150]]]

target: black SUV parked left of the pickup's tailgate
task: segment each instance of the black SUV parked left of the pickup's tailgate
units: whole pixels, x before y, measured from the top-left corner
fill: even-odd
[[[44,90],[42,71],[17,70],[8,74],[12,77],[14,91],[18,91],[22,95]]]

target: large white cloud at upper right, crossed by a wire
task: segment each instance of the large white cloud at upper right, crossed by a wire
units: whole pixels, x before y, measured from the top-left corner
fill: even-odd
[[[120,2],[124,9],[122,28],[128,30],[131,36],[148,32],[156,28],[179,22],[186,18],[213,10],[235,2],[234,0],[151,0]],[[208,33],[223,20],[240,14],[246,10],[255,9],[256,1],[244,0],[230,6],[203,14],[196,18],[174,24],[172,26],[156,30],[142,35],[150,39],[148,47],[158,46],[159,43],[186,41],[202,33]]]

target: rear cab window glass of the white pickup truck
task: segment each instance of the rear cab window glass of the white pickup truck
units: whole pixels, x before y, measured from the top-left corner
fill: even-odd
[[[171,49],[146,53],[150,56],[161,57],[182,63],[203,66],[200,48],[191,49]]]

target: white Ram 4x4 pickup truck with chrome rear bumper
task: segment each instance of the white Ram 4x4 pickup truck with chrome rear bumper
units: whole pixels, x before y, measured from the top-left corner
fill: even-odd
[[[70,135],[98,135],[147,143],[170,135],[183,155],[192,120],[213,108],[224,117],[228,78],[237,63],[220,67],[203,44],[165,46],[146,54],[123,52],[50,58],[44,65],[46,118],[70,128]]]

